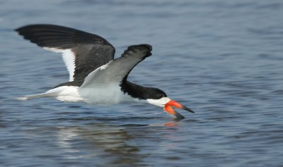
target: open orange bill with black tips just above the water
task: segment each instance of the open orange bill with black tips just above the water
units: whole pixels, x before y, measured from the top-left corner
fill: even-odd
[[[183,109],[185,111],[189,111],[191,113],[195,113],[194,111],[192,111],[191,109],[187,108],[186,106],[183,106],[182,104],[178,103],[177,101],[171,100],[171,101],[169,101],[168,103],[165,104],[164,111],[170,113],[171,115],[175,116],[176,118],[185,118],[185,117],[182,116],[177,111],[175,111],[171,106],[176,107],[178,109]]]

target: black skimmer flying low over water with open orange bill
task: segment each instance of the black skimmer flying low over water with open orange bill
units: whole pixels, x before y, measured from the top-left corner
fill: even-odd
[[[191,109],[169,99],[165,92],[127,81],[134,66],[151,56],[149,44],[132,45],[120,58],[114,58],[115,48],[98,35],[59,25],[27,25],[16,29],[24,39],[44,49],[62,54],[69,82],[42,94],[18,99],[53,97],[60,101],[83,101],[88,104],[111,105],[122,101],[144,101],[163,107],[176,118],[184,118],[172,107],[194,113]]]

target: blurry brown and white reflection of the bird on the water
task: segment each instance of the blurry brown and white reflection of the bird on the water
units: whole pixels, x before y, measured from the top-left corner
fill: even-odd
[[[140,144],[146,141],[149,133],[158,132],[153,128],[176,127],[179,120],[166,123],[137,124],[115,123],[115,121],[93,121],[83,126],[59,128],[57,144],[68,152],[68,159],[83,157],[80,151],[88,151],[84,158],[93,158],[102,164],[119,164],[121,166],[142,166],[144,154]],[[118,121],[120,122],[120,121]],[[157,135],[158,134],[154,134]],[[76,154],[77,152],[77,154]]]

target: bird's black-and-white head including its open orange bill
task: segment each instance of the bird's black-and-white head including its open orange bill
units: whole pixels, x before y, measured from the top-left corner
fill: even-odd
[[[165,92],[163,92],[161,89],[153,88],[151,89],[151,94],[146,101],[149,104],[153,104],[155,106],[161,106],[163,107],[163,110],[170,113],[171,115],[175,116],[176,118],[185,118],[180,113],[175,111],[172,107],[183,109],[185,111],[189,111],[191,113],[195,113],[191,109],[187,108],[186,106],[183,106],[182,104],[178,103],[177,101],[173,101],[172,99],[169,99]]]

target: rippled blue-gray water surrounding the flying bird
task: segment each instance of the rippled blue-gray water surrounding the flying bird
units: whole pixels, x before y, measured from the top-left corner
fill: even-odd
[[[283,1],[1,1],[0,166],[283,166]],[[13,29],[52,23],[116,47],[149,43],[129,76],[196,111],[17,101],[68,80]]]

